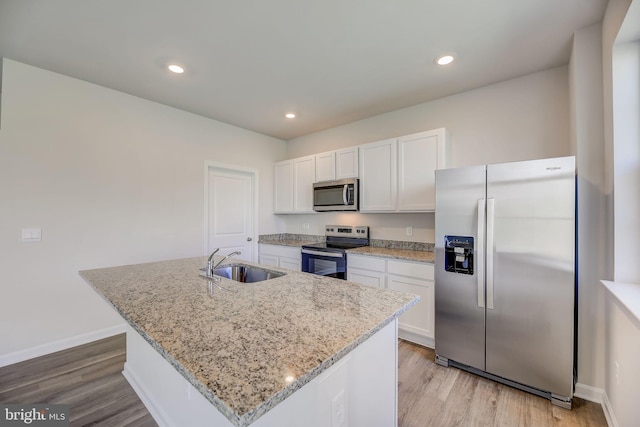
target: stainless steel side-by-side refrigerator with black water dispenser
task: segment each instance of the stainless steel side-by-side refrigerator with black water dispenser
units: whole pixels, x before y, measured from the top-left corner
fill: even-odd
[[[436,362],[570,408],[574,157],[436,171]]]

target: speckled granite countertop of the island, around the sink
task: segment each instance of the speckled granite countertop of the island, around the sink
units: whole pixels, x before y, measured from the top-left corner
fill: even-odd
[[[210,281],[199,276],[205,264],[198,257],[80,275],[239,427],[418,301],[411,294],[275,267],[269,269],[287,274],[253,284],[222,279],[228,290],[213,286],[210,292]]]

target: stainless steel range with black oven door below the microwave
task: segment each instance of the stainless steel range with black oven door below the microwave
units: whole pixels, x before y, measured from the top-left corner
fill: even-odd
[[[369,246],[369,227],[327,225],[326,242],[302,245],[302,271],[347,279],[347,249]]]

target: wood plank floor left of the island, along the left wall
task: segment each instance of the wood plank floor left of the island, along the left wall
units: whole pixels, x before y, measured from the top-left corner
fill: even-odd
[[[122,375],[124,334],[0,368],[0,402],[69,405],[73,427],[157,426]]]

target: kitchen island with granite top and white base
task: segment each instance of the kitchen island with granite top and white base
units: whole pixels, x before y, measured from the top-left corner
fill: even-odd
[[[395,425],[397,317],[416,296],[276,268],[287,274],[216,286],[199,275],[205,264],[80,272],[132,328],[125,371],[159,424]],[[179,384],[168,372],[201,396],[190,387],[171,395],[180,387],[161,386],[163,376]]]

